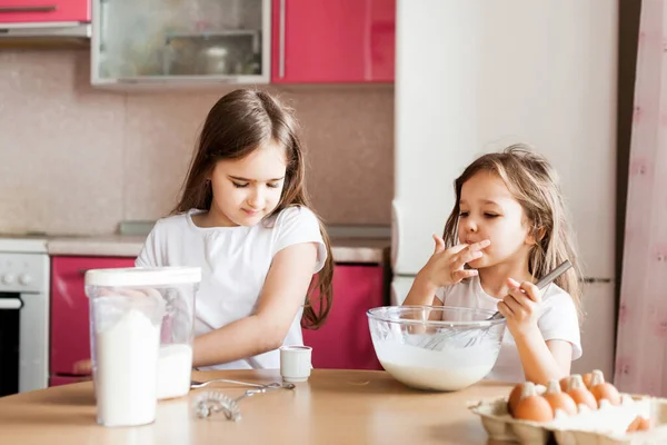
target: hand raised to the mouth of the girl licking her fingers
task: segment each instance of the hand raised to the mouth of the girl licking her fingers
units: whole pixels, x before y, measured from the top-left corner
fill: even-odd
[[[445,241],[437,235],[434,235],[436,249],[426,266],[421,268],[419,275],[430,286],[441,287],[451,286],[460,283],[464,278],[470,278],[477,275],[477,269],[465,269],[466,263],[481,258],[481,251],[488,247],[491,241],[485,239],[475,244],[459,244],[449,249],[445,249]]]

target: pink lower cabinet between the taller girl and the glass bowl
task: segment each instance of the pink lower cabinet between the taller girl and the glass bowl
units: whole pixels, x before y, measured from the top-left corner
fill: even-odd
[[[329,317],[317,330],[303,329],[303,344],[312,347],[312,367],[382,369],[372,347],[366,312],[385,305],[380,265],[336,265]]]

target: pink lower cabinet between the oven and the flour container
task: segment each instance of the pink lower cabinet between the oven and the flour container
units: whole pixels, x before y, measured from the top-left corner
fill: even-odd
[[[90,358],[89,309],[83,276],[88,269],[133,267],[135,258],[60,257],[51,260],[51,379],[74,374]]]

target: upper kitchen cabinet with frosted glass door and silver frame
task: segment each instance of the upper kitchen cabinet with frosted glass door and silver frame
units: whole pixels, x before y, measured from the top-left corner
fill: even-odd
[[[92,85],[270,80],[271,0],[93,0],[92,6]]]

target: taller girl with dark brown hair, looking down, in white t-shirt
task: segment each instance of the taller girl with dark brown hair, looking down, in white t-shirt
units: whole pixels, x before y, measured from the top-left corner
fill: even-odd
[[[279,368],[278,348],[302,345],[301,320],[327,318],[332,260],[303,169],[295,119],[268,93],[236,90],[209,111],[180,201],[136,261],[201,267],[195,367]]]

